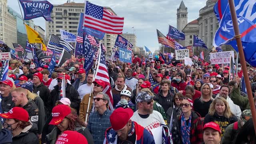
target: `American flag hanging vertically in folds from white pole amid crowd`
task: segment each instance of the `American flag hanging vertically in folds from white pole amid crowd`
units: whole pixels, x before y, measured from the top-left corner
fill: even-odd
[[[99,54],[99,58],[100,60],[98,61],[98,66],[97,66],[97,70],[96,70],[96,74],[95,74],[95,80],[102,80],[103,82],[105,82],[106,87],[104,88],[103,92],[105,92],[106,94],[108,94],[109,98],[110,98],[110,109],[114,110],[113,108],[113,97],[112,97],[112,91],[111,91],[111,85],[110,85],[110,81],[109,81],[109,76],[108,76],[108,68],[106,66],[106,62],[105,62],[105,56],[103,54],[103,51],[99,50],[100,54]]]

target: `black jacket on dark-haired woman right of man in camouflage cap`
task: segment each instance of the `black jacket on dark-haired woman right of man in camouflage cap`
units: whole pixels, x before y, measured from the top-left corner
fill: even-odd
[[[160,92],[156,94],[154,100],[164,108],[164,112],[167,112],[168,108],[173,106],[172,102],[174,100],[174,95],[169,90],[167,96],[163,96],[163,92],[160,90]]]

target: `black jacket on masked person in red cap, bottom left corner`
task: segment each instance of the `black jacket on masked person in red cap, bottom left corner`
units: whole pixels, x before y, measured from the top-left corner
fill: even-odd
[[[39,144],[39,140],[36,136],[37,125],[32,123],[32,127],[29,127],[30,126],[24,128],[18,136],[14,136],[12,138],[12,144]]]

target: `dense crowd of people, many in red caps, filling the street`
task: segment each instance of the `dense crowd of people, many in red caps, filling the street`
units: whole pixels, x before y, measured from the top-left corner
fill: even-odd
[[[110,96],[106,83],[94,80],[96,62],[88,72],[77,62],[50,73],[48,64],[10,61],[0,81],[0,144],[256,143],[241,64],[230,76],[231,66],[200,59],[184,65],[162,53],[134,54],[132,63],[106,60]],[[248,75],[256,94],[256,69],[248,66]]]

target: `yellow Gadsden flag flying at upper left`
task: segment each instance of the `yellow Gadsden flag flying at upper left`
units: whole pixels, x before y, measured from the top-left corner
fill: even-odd
[[[26,25],[26,30],[27,30],[27,35],[28,35],[28,42],[29,43],[40,43],[42,44],[42,50],[46,51],[46,46],[44,44],[43,39],[41,36],[36,32],[33,28],[30,26]]]

